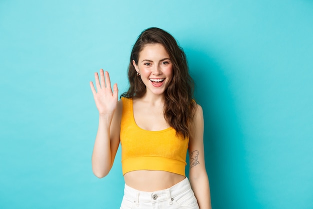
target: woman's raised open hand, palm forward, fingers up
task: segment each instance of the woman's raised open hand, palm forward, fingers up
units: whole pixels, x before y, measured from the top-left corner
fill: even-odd
[[[94,73],[94,79],[96,90],[92,81],[90,81],[90,88],[93,94],[96,108],[99,111],[99,115],[108,115],[112,117],[118,100],[117,84],[115,83],[113,85],[112,91],[108,72],[105,71],[104,79],[104,72],[102,69],[100,69],[100,79],[98,73]]]

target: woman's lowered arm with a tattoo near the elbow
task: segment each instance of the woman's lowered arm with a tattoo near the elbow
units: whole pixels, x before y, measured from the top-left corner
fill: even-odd
[[[209,183],[204,163],[203,112],[202,108],[197,106],[189,137],[189,180],[200,209],[211,209]]]

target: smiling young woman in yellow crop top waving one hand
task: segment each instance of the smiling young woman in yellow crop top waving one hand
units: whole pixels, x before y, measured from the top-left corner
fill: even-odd
[[[90,82],[99,111],[93,173],[107,175],[121,143],[120,208],[211,208],[202,109],[193,100],[193,81],[175,39],[158,28],[144,30],[131,51],[128,79],[119,101],[108,72],[101,69],[100,78],[95,73],[96,89]]]

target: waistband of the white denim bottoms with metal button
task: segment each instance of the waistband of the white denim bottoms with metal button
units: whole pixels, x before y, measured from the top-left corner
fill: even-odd
[[[153,192],[139,191],[125,184],[124,195],[130,199],[133,199],[135,202],[156,202],[166,199],[170,201],[175,196],[183,193],[184,191],[187,191],[188,189],[191,189],[191,186],[188,178],[185,178],[170,188]]]

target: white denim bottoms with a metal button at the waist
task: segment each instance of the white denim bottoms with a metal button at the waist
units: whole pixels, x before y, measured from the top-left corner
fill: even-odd
[[[125,184],[120,209],[199,209],[188,178],[170,188],[146,192],[138,191]]]

